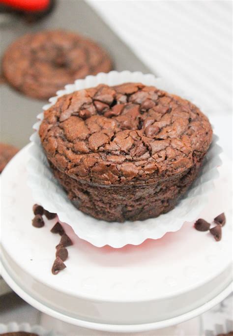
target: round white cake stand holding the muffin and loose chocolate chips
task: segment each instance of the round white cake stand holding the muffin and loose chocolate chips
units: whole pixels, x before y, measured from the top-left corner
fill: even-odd
[[[27,161],[28,147],[2,173],[1,274],[29,304],[81,327],[137,332],[191,319],[231,292],[230,165],[221,167],[201,214],[211,220],[225,212],[221,242],[185,223],[178,232],[139,246],[98,248],[64,224],[74,245],[68,247],[67,268],[52,275],[59,236],[50,233],[55,220],[40,229],[31,225],[36,200],[27,186]]]

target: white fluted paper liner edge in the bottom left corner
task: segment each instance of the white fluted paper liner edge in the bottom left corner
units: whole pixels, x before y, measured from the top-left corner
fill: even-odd
[[[3,333],[16,333],[16,332],[34,333],[38,336],[61,336],[54,331],[46,331],[38,325],[30,326],[29,323],[10,322],[8,324],[0,323],[0,335]]]

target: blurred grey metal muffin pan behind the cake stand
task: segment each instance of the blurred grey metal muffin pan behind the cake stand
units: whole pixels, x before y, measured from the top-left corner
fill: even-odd
[[[54,11],[43,21],[28,25],[11,19],[0,24],[0,54],[8,44],[26,32],[46,29],[77,31],[93,38],[112,55],[117,71],[151,72],[132,51],[109,29],[86,2],[59,0]],[[67,83],[69,84],[69,83]],[[32,125],[46,101],[29,98],[7,84],[0,86],[0,141],[22,148],[29,143]]]

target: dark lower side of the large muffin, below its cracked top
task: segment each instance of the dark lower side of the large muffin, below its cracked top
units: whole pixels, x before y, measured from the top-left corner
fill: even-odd
[[[147,185],[94,185],[75,180],[51,164],[59,183],[80,211],[106,221],[144,220],[172,210],[195,180],[201,162],[182,174]]]

